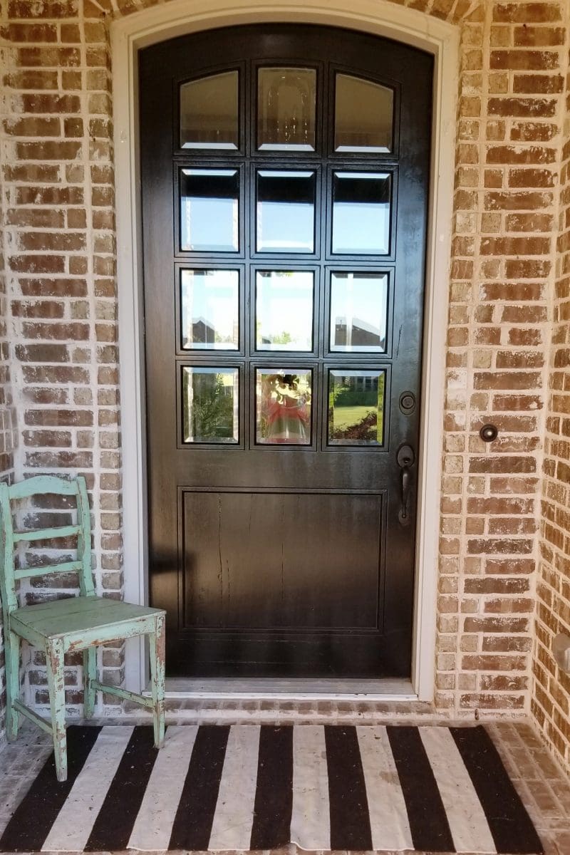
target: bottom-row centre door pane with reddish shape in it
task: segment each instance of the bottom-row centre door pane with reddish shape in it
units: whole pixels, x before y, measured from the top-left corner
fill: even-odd
[[[311,444],[311,369],[256,369],[256,443]]]

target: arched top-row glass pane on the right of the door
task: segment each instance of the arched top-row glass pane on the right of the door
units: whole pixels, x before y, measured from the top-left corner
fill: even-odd
[[[337,74],[335,151],[391,151],[394,93],[350,74]]]

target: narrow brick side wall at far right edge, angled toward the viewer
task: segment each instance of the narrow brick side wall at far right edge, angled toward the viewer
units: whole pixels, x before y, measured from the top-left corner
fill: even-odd
[[[567,8],[567,21],[570,7]],[[570,27],[567,27],[567,33]],[[570,37],[567,34],[566,50]],[[566,78],[556,239],[553,329],[544,444],[538,611],[532,713],[570,768],[570,675],[556,667],[552,640],[570,635],[570,77]]]

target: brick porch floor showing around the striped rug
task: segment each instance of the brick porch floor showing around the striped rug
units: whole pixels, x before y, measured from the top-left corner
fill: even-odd
[[[234,713],[232,716],[231,714],[228,715],[228,712],[226,710],[226,715],[218,718],[217,722],[226,724],[270,722],[269,716],[244,716],[239,715],[239,713],[237,715]],[[285,721],[285,717],[283,715],[272,716],[271,720],[275,724],[293,723],[291,720]],[[362,716],[355,716],[352,722],[347,720],[347,716],[342,717],[343,723],[372,723],[363,721]],[[316,717],[308,716],[306,721],[315,723]],[[334,719],[331,716],[323,716],[323,721],[333,723]],[[215,723],[216,720],[214,716],[209,715],[198,715],[196,717],[167,716],[167,724],[202,722]],[[295,716],[295,723],[302,722],[302,716]],[[80,722],[78,720],[72,723]],[[90,723],[148,723],[148,719],[122,718],[114,720],[105,718],[91,720]],[[395,724],[398,721],[393,718],[378,716],[374,723]],[[423,718],[400,720],[399,723],[426,724],[428,722]],[[437,722],[432,721],[430,723]],[[448,725],[451,722],[443,721],[441,723]],[[468,722],[456,723],[467,725]],[[545,855],[570,855],[570,780],[555,763],[555,760],[550,757],[532,723],[525,720],[485,721],[482,723],[485,723],[485,727],[488,728],[514,786],[520,794],[526,810],[532,817],[543,841]],[[22,726],[18,740],[0,752],[0,833],[2,833],[16,805],[25,795],[27,788],[49,753],[50,737],[27,722]],[[273,855],[277,855],[277,852],[279,855],[295,855],[297,847],[290,846],[284,850],[275,850]],[[312,853],[312,855],[317,855],[317,853]],[[391,853],[385,852],[384,855],[391,855]]]

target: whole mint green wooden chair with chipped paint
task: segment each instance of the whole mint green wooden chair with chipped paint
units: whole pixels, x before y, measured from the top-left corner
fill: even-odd
[[[75,497],[77,523],[58,528],[17,531],[11,502],[40,494]],[[58,781],[68,776],[65,732],[65,688],[63,657],[83,651],[85,717],[93,714],[97,692],[134,701],[153,711],[155,745],[164,740],[164,620],[165,612],[140,605],[97,597],[91,575],[91,517],[85,478],[65,481],[52,475],[38,475],[8,486],[0,484],[0,596],[6,658],[6,735],[14,740],[20,716],[26,716],[52,734]],[[52,538],[77,538],[77,559],[41,567],[15,567],[15,545]],[[16,582],[47,573],[77,572],[79,596],[18,607]],[[97,646],[109,641],[148,635],[150,646],[149,697],[97,680]],[[50,689],[51,722],[38,716],[20,699],[20,642],[25,639],[45,653]]]

